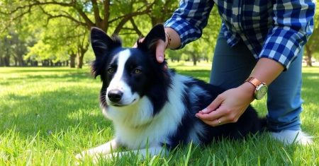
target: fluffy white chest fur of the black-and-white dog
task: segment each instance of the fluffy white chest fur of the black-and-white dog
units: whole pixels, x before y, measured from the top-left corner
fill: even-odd
[[[155,117],[152,102],[147,97],[142,97],[131,110],[108,110],[106,117],[113,120],[116,138],[121,143],[128,148],[169,143],[169,136],[176,132],[186,109],[181,102],[184,84],[179,79],[177,76],[172,80],[174,90],[169,90],[169,101]]]

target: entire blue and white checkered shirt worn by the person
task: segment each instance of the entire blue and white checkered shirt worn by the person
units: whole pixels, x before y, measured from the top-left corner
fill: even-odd
[[[256,59],[274,59],[286,69],[313,32],[314,0],[181,0],[164,23],[179,34],[179,48],[201,37],[214,4],[228,45],[242,40]]]

